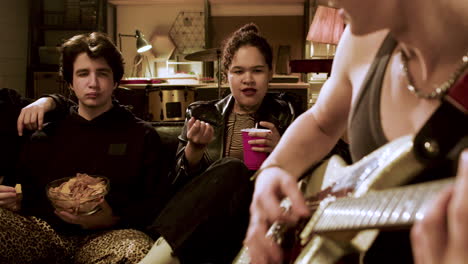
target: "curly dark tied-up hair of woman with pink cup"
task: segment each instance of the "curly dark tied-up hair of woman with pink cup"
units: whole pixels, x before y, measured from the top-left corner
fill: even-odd
[[[233,32],[231,36],[224,41],[221,61],[221,69],[224,78],[226,78],[226,73],[231,66],[232,59],[237,50],[244,46],[256,47],[265,58],[268,68],[270,70],[273,68],[273,52],[270,44],[260,35],[258,26],[254,23],[249,23]]]

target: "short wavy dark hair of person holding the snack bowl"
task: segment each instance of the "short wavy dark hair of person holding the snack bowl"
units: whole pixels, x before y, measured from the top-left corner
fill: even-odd
[[[73,83],[73,64],[76,57],[86,52],[90,58],[104,58],[112,69],[114,82],[120,83],[124,73],[122,54],[109,37],[101,32],[76,35],[61,47],[60,74],[68,83]]]

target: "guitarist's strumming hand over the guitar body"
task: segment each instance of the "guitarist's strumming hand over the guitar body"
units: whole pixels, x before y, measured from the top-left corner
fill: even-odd
[[[280,208],[280,201],[284,197],[289,197],[292,204],[287,213]],[[272,238],[266,237],[268,229],[275,221],[296,223],[299,218],[309,214],[294,177],[278,167],[260,173],[255,183],[249,229],[244,240],[251,263],[281,263],[281,248]]]

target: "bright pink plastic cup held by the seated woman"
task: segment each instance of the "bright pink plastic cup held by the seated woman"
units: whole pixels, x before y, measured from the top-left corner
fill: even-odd
[[[242,144],[244,145],[244,163],[249,170],[258,170],[268,156],[266,152],[253,151],[252,146],[264,147],[265,145],[250,145],[249,140],[263,139],[262,137],[249,136],[249,132],[271,132],[269,129],[247,128],[242,129]]]

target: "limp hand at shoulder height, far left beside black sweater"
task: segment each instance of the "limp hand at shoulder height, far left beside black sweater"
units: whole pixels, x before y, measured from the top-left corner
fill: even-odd
[[[42,97],[21,109],[17,121],[18,135],[23,135],[23,129],[41,130],[45,113],[55,109],[55,102],[51,97]]]

